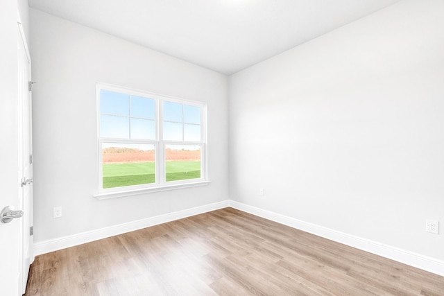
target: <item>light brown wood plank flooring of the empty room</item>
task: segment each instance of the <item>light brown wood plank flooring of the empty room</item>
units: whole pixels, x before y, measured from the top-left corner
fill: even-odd
[[[444,295],[444,277],[226,208],[37,256],[26,295]]]

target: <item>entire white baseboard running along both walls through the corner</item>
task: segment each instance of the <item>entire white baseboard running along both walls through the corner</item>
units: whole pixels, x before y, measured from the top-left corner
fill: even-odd
[[[309,232],[311,234],[315,234],[323,238],[328,238],[332,241],[343,243],[344,245],[349,245],[350,247],[356,247],[359,250],[364,250],[366,252],[377,254],[379,256],[383,256],[388,259],[392,259],[407,265],[411,265],[413,267],[420,268],[422,270],[427,270],[428,272],[433,272],[436,275],[444,276],[444,261],[441,261],[439,259],[434,259],[421,254],[416,254],[413,252],[409,252],[407,250],[402,250],[398,247],[393,247],[391,245],[385,245],[383,243],[370,241],[366,238],[360,238],[359,236],[352,236],[350,234],[338,232],[336,230],[327,227],[322,227],[319,225],[314,225],[312,223],[307,223],[305,221],[298,220],[296,218],[291,218],[288,216],[274,213],[272,211],[259,209],[257,207],[253,207],[248,204],[243,204],[241,202],[235,202],[234,200],[224,200],[222,202],[215,202],[213,204],[205,204],[204,206],[185,209],[182,211],[176,211],[173,213],[155,216],[151,218],[145,218],[142,220],[136,220],[133,222],[123,223],[121,225],[114,225],[102,229],[92,230],[90,232],[83,232],[71,236],[63,236],[61,238],[51,239],[49,241],[42,241],[34,244],[34,253],[35,256],[40,254],[46,254],[49,252],[65,249],[67,247],[73,247],[74,245],[81,245],[83,243],[97,241],[102,238],[107,238],[110,236],[115,236],[126,232],[132,232],[137,229],[159,225],[173,220],[187,218],[189,216],[203,214],[208,211],[223,209],[225,207],[232,207],[234,209],[239,209],[240,211],[245,211],[255,216],[266,218],[268,220],[272,220],[296,229],[300,229],[304,232]]]

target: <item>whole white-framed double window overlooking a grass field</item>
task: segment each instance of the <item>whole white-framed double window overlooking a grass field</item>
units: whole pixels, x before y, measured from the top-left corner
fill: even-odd
[[[99,194],[204,184],[205,104],[97,85]]]

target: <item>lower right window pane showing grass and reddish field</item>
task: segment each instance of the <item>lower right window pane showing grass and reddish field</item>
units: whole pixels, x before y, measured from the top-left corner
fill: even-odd
[[[200,146],[166,145],[165,159],[167,182],[200,178]]]

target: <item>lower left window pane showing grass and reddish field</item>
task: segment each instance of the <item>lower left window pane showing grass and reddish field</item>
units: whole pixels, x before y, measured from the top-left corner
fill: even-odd
[[[103,188],[155,183],[155,146],[103,143]]]

